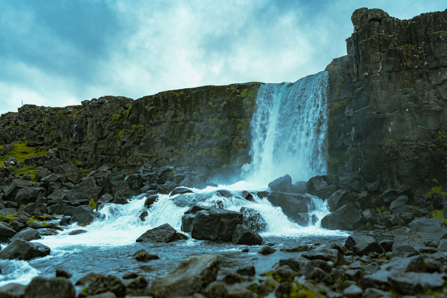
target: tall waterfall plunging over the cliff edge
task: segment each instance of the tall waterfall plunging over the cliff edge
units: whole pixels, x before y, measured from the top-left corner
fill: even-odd
[[[328,72],[293,84],[259,88],[251,122],[252,162],[243,166],[248,181],[266,185],[289,174],[307,181],[327,170]]]

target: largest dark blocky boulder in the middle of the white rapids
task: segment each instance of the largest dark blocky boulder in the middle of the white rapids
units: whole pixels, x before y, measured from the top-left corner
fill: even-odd
[[[241,225],[240,212],[212,208],[195,213],[191,237],[198,240],[232,241],[236,225]]]

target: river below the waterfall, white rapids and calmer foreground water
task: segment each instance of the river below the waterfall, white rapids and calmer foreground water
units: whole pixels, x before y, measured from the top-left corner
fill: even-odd
[[[218,189],[226,189],[233,193],[232,197],[215,195]],[[73,273],[70,279],[75,283],[89,272],[114,274],[122,276],[125,272],[136,272],[149,281],[160,273],[167,273],[191,255],[214,254],[220,257],[219,274],[234,272],[236,268],[253,264],[257,272],[270,269],[279,259],[291,257],[291,253],[279,251],[283,247],[301,244],[329,243],[336,239],[346,238],[343,231],[329,231],[320,228],[320,220],[329,213],[325,203],[314,197],[309,204],[309,214],[314,214],[318,221],[314,226],[299,226],[289,221],[279,207],[274,207],[266,199],[254,195],[254,202],[241,198],[241,189],[258,191],[249,184],[239,182],[229,186],[207,187],[203,190],[192,189],[194,194],[160,195],[159,199],[148,210],[146,221],[139,215],[144,209],[146,196],[135,197],[126,205],[106,204],[99,211],[103,219],[96,220],[89,226],[76,224],[64,227],[58,235],[45,236],[34,240],[51,247],[51,255],[30,261],[1,260],[0,286],[10,282],[27,284],[35,276],[54,277],[56,269]],[[217,201],[223,208],[239,211],[241,207],[249,207],[259,212],[267,223],[265,232],[260,233],[266,243],[277,243],[277,252],[272,255],[260,255],[260,246],[248,247],[249,252],[241,252],[245,245],[232,243],[214,243],[190,238],[173,243],[136,243],[135,240],[145,231],[169,223],[180,231],[181,216],[194,204],[213,206]],[[88,233],[69,235],[68,233],[84,229]],[[4,248],[4,245],[2,245]],[[147,263],[137,262],[131,256],[139,249],[146,249],[160,257]]]

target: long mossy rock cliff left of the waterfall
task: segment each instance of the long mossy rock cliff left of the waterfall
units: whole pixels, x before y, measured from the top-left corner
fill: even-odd
[[[62,161],[137,170],[192,166],[208,174],[249,162],[249,123],[261,83],[173,90],[82,106],[25,105],[0,117],[0,144],[57,147]],[[37,148],[38,149],[38,148]]]

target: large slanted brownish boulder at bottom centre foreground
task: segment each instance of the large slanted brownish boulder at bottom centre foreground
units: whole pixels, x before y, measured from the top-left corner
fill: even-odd
[[[172,272],[152,281],[150,294],[154,298],[190,296],[215,281],[219,260],[214,255],[191,256]]]

